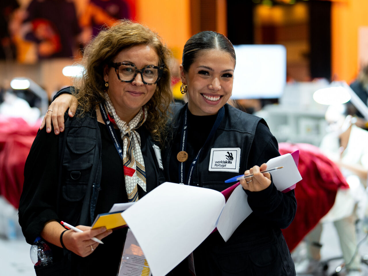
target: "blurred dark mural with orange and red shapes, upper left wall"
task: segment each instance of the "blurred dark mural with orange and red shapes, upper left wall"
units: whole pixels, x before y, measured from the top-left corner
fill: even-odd
[[[101,29],[120,19],[134,19],[136,6],[134,0],[0,2],[1,46],[13,43],[13,59],[28,64],[54,58],[80,58],[81,49]],[[6,58],[8,48],[0,49],[0,59]]]

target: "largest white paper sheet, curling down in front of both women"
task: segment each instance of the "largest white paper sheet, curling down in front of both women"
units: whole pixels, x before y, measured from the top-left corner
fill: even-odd
[[[163,276],[215,229],[224,205],[218,191],[165,182],[121,215],[141,245],[152,274]]]

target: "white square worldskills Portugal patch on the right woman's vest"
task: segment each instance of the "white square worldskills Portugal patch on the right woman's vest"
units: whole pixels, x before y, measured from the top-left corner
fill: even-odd
[[[239,172],[240,148],[211,149],[209,171]]]

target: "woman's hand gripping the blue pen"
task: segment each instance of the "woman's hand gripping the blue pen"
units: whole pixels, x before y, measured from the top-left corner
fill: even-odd
[[[266,170],[267,165],[263,163],[261,167],[254,166],[250,170],[246,170],[244,175],[253,174],[252,177],[240,179],[240,184],[245,190],[251,192],[259,192],[265,190],[271,184],[270,173],[260,173],[260,171]]]

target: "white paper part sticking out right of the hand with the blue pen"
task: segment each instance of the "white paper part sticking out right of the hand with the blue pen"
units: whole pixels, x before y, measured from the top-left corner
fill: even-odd
[[[273,184],[279,191],[283,191],[302,180],[298,167],[290,153],[272,158],[266,164],[268,169],[283,166],[280,170],[270,171]]]

